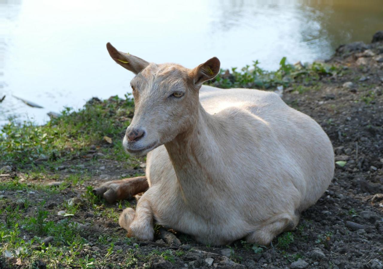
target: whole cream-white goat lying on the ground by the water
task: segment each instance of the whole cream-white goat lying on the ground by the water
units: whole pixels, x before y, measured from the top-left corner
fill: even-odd
[[[194,69],[108,51],[136,73],[135,113],[124,148],[147,153],[146,177],[97,189],[109,201],[142,195],[120,216],[129,236],[153,240],[153,220],[201,243],[240,238],[268,245],[295,228],[334,174],[331,142],[311,117],[275,93],[202,85],[219,72],[211,58]],[[147,181],[146,181],[147,180]]]

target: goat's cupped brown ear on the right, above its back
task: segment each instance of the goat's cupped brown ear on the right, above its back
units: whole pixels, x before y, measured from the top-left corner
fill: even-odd
[[[207,60],[190,71],[190,77],[194,85],[201,86],[206,80],[214,78],[219,73],[219,62],[217,57]]]

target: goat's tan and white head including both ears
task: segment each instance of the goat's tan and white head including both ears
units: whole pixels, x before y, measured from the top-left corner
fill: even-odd
[[[178,64],[154,64],[106,44],[113,60],[135,73],[131,81],[134,117],[126,129],[123,145],[132,155],[144,155],[172,141],[196,121],[198,91],[219,72],[214,57],[194,69]]]

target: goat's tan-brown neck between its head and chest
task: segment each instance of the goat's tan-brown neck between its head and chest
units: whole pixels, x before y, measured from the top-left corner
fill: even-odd
[[[219,142],[226,133],[223,129],[224,124],[199,104],[194,126],[165,144],[185,198],[196,192],[202,194],[220,178],[223,158]]]

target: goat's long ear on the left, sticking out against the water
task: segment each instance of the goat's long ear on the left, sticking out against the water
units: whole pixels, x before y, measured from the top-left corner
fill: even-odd
[[[106,43],[106,49],[108,49],[110,57],[112,57],[112,59],[115,60],[117,64],[128,69],[129,71],[132,71],[135,74],[138,74],[142,69],[149,65],[146,60],[142,60],[141,58],[129,53],[124,53],[116,50],[116,48],[113,47],[109,42]]]

